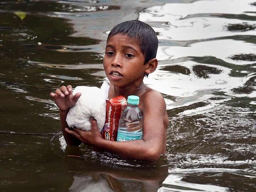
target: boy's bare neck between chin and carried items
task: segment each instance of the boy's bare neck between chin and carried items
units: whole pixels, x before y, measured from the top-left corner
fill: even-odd
[[[125,87],[124,89],[114,86],[114,97],[122,95],[123,97],[125,97],[127,99],[127,97],[129,95],[140,96],[140,94],[142,94],[142,92],[144,90],[143,89],[144,87],[145,87],[145,85],[144,85],[143,81],[140,84],[135,83],[129,87]]]

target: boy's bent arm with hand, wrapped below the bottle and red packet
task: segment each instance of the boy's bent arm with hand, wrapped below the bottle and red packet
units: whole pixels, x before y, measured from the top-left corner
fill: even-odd
[[[156,161],[166,148],[166,105],[162,95],[152,91],[145,97],[143,106],[143,139],[136,141],[116,142],[102,139],[97,129],[97,122],[90,119],[92,128],[88,132],[80,129],[71,131],[65,129],[71,135],[84,143],[117,154],[124,158]],[[154,102],[152,102],[154,101]]]

